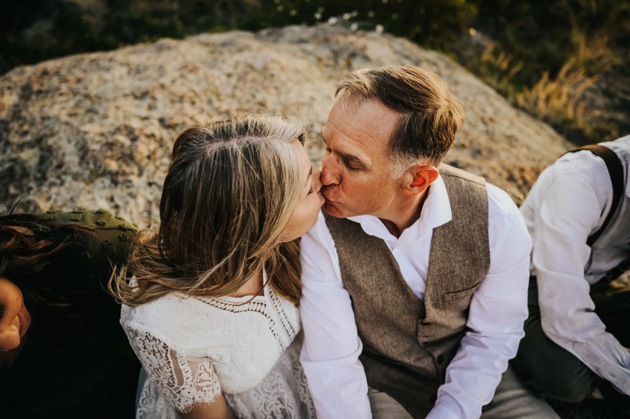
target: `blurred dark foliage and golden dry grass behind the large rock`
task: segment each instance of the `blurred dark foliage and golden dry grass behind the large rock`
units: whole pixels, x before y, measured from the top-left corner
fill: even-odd
[[[0,74],[71,53],[203,31],[319,22],[387,31],[445,52],[576,142],[630,130],[585,92],[627,72],[630,0],[9,0]],[[622,71],[621,71],[622,72]],[[591,95],[592,96],[592,95]],[[630,115],[630,102],[622,103]],[[618,118],[619,119],[619,118]],[[621,118],[623,119],[623,118]]]

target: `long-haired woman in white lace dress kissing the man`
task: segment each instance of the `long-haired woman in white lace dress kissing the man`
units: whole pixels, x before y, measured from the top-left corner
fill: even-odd
[[[324,198],[304,132],[278,116],[188,128],[157,233],[117,279],[144,369],[137,417],[314,418],[299,364],[295,241]]]

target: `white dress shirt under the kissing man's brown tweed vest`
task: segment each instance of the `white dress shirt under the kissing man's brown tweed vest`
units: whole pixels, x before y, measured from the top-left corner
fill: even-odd
[[[490,403],[524,335],[531,240],[512,199],[496,186],[488,184],[487,189],[490,271],[473,295],[466,334],[447,367],[446,382],[438,389],[428,419],[479,418],[481,406]],[[438,177],[429,188],[420,218],[399,238],[374,216],[348,220],[384,240],[405,281],[423,299],[433,228],[451,218],[449,195]],[[300,313],[305,333],[301,361],[318,418],[371,418],[365,371],[358,360],[362,344],[323,215],[302,237],[301,247]]]

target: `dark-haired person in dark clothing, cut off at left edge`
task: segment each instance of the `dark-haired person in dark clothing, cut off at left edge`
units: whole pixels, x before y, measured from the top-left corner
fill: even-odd
[[[106,210],[0,216],[0,416],[132,418],[140,364],[106,291],[137,227]]]

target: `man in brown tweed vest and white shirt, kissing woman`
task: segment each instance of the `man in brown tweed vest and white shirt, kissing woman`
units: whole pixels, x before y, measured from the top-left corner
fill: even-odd
[[[557,418],[508,369],[527,318],[522,216],[440,165],[459,100],[419,67],[358,70],[340,93],[322,130],[328,215],[301,242],[318,418],[476,419],[491,400],[484,419]]]

